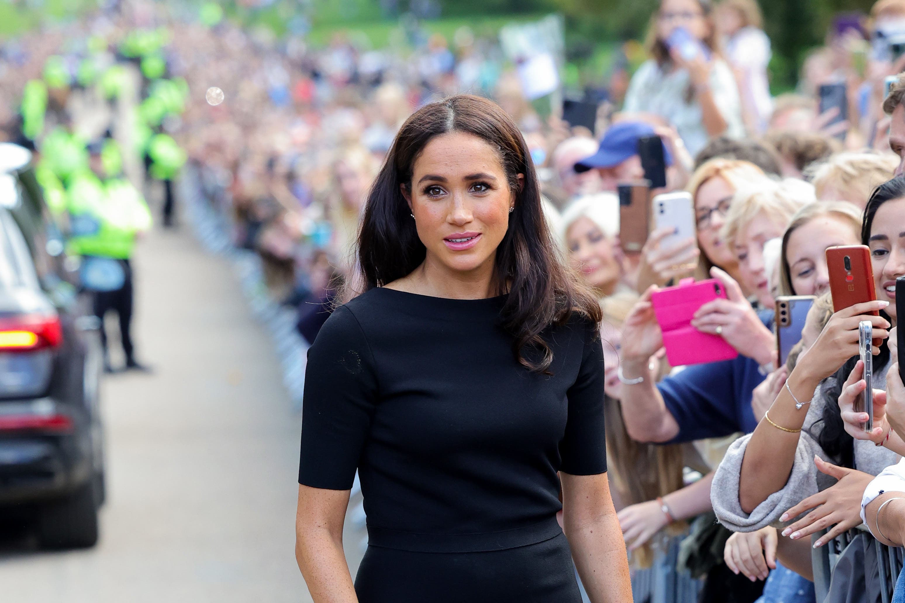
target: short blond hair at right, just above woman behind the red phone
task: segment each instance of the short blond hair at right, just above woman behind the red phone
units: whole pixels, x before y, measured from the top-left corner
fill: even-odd
[[[898,165],[896,155],[847,151],[830,155],[825,161],[812,165],[807,175],[814,184],[818,198],[832,186],[837,190],[850,191],[867,203],[873,189],[890,180]]]

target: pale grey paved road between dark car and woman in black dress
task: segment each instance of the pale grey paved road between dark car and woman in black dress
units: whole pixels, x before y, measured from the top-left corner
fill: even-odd
[[[149,233],[136,274],[138,356],[155,373],[103,388],[101,542],[0,542],[0,599],[310,601],[293,556],[300,418],[268,334],[187,229]]]

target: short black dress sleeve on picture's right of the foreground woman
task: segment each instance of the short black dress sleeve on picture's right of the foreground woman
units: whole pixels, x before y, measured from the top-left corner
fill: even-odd
[[[604,347],[596,326],[585,325],[584,350],[575,383],[566,392],[566,435],[559,443],[559,470],[573,476],[606,471]]]

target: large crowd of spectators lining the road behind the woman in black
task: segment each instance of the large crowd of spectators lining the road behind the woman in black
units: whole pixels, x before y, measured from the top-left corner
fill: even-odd
[[[340,34],[315,49],[300,37],[250,33],[210,6],[187,18],[121,3],[7,42],[0,121],[60,176],[42,180],[49,202],[83,188],[56,169],[54,155],[66,150],[54,146],[60,127],[91,143],[97,174],[164,183],[165,223],[178,215],[174,180],[193,170],[207,202],[229,218],[234,244],[260,255],[270,295],[298,308],[300,334],[313,342],[338,290],[360,276],[361,214],[399,127],[433,99],[462,91],[494,99],[528,144],[560,253],[605,316],[600,436],[636,600],[653,596],[656,580],[643,576],[659,571],[693,585],[702,601],[872,601],[867,534],[905,542],[905,385],[894,329],[895,281],[905,276],[905,79],[895,77],[905,70],[895,42],[903,24],[903,0],[841,15],[806,58],[797,90],[772,97],[756,0],[662,0],[649,60],[627,88],[612,78],[592,131],[556,111],[539,116],[499,44],[468,28],[452,41],[408,32],[408,53],[364,49]],[[157,40],[149,50],[148,36]],[[35,79],[49,90],[36,130],[24,101]],[[156,80],[185,82],[186,98],[170,108],[183,84]],[[843,90],[843,103],[826,108],[828,90]],[[172,144],[153,146],[157,136]],[[666,182],[651,193],[690,193],[695,232],[677,240],[653,230],[634,250],[621,237],[632,225],[620,224],[617,192],[649,175],[638,149],[653,136]],[[119,170],[100,165],[108,140],[121,147]],[[71,201],[60,203],[73,213]],[[133,231],[148,227],[140,221]],[[860,244],[871,250],[877,301],[834,312],[824,252]],[[129,272],[130,247],[123,253],[113,257]],[[652,297],[684,278],[714,278],[725,291],[691,326],[722,338],[734,359],[682,367],[664,356]],[[816,297],[785,363],[776,355],[781,296]],[[877,354],[872,431],[854,410],[865,320]],[[869,532],[851,532],[861,525]],[[836,562],[829,595],[815,591],[814,551],[847,532],[850,561]],[[674,547],[678,562],[663,567]],[[853,583],[864,585],[859,598],[846,590]],[[905,586],[896,597],[905,600]]]

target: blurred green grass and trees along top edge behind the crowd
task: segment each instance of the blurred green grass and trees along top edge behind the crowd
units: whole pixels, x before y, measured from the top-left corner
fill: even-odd
[[[158,0],[185,10],[200,0]],[[807,53],[824,42],[834,14],[867,14],[874,0],[759,0],[765,30],[773,41],[770,65],[774,92],[795,86]],[[277,36],[304,34],[309,43],[329,43],[338,32],[379,48],[397,42],[405,18],[417,19],[427,33],[447,40],[462,26],[476,36],[495,35],[512,21],[529,21],[558,12],[566,19],[567,68],[572,87],[604,80],[614,50],[643,41],[658,0],[221,0],[226,14]],[[14,35],[43,20],[65,21],[98,0],[0,0],[0,34]],[[400,20],[403,20],[402,24]],[[643,58],[637,43],[625,49],[630,64]]]

